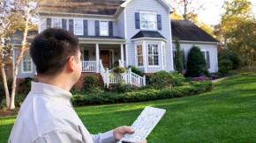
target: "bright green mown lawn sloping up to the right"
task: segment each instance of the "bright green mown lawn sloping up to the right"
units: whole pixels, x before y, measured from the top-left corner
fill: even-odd
[[[79,107],[76,111],[87,129],[96,133],[131,125],[148,105],[167,110],[147,138],[149,143],[256,142],[256,75],[252,74],[234,75],[199,96]],[[14,118],[0,118],[0,142],[8,139]]]

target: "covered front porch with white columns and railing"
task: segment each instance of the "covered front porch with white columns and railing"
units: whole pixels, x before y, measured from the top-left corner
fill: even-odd
[[[120,44],[80,44],[82,54],[82,72],[100,73],[102,64],[104,69],[112,69],[119,65],[126,68],[126,50]]]

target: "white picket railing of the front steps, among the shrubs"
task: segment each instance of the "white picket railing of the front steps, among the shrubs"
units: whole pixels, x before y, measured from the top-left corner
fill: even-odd
[[[131,68],[129,68],[125,73],[114,73],[109,69],[104,69],[102,61],[100,61],[100,73],[107,88],[109,88],[109,84],[117,84],[119,82],[124,82],[137,87],[146,86],[146,76],[139,76],[132,73]]]

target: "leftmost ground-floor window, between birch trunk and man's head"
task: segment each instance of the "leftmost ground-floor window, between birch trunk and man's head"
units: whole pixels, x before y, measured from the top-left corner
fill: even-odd
[[[22,73],[32,73],[33,72],[32,59],[29,56],[28,52],[26,52],[22,58],[21,69],[22,69]]]

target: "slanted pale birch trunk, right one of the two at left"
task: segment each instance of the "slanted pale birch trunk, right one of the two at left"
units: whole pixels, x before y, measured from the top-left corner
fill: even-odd
[[[30,19],[30,9],[28,8],[26,10],[26,22],[25,22],[25,29],[23,33],[23,39],[21,43],[21,50],[19,53],[18,60],[15,63],[15,66],[13,68],[13,79],[12,79],[12,86],[11,86],[11,103],[10,103],[10,109],[13,110],[15,109],[15,93],[16,93],[16,84],[17,84],[17,75],[18,75],[18,70],[19,70],[19,63],[26,52],[27,49],[27,44],[26,44],[26,37],[27,37],[27,32],[28,32],[28,23]]]

